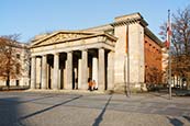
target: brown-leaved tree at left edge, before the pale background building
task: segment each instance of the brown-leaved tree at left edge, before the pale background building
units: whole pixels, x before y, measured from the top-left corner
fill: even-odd
[[[0,78],[7,80],[7,87],[10,87],[10,79],[21,75],[21,62],[16,55],[20,45],[16,42],[18,34],[0,37]]]

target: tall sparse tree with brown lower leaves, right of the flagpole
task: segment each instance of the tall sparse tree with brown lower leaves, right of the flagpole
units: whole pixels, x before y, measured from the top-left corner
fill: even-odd
[[[190,79],[190,5],[172,14],[171,69],[172,75]],[[166,41],[167,23],[160,26],[160,35]],[[178,78],[178,77],[177,77]]]

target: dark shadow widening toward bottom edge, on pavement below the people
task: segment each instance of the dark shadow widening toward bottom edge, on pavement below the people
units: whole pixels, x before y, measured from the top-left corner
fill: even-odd
[[[111,99],[112,99],[112,95],[109,98],[109,100],[108,100],[105,106],[103,107],[103,110],[102,110],[102,112],[100,113],[100,115],[96,118],[96,121],[94,121],[94,123],[93,123],[92,126],[99,126],[99,124],[103,121],[103,114],[105,113],[107,107],[108,107],[108,105],[109,105]]]

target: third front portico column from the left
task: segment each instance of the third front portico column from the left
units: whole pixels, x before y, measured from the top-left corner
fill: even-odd
[[[54,78],[53,78],[53,89],[58,89],[58,68],[59,68],[59,54],[54,54]]]

